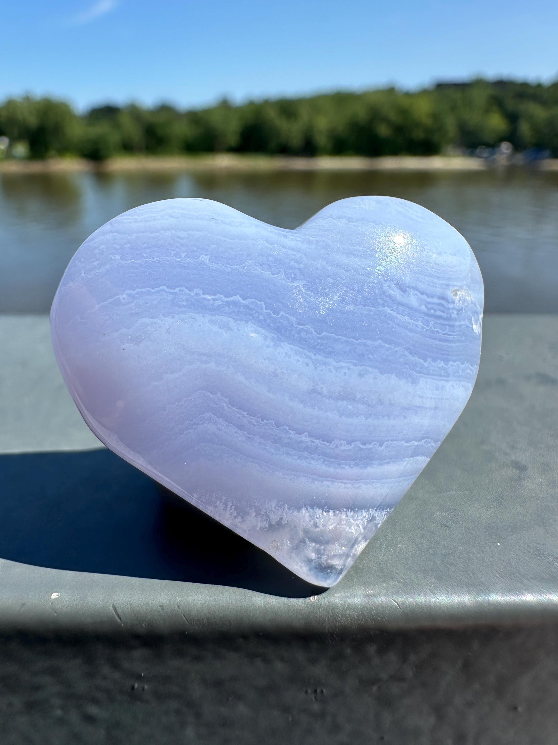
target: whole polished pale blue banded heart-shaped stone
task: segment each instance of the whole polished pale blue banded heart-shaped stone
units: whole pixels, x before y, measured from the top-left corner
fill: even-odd
[[[106,446],[331,586],[464,408],[482,308],[469,245],[414,203],[286,230],[174,199],[85,241],[51,327]]]

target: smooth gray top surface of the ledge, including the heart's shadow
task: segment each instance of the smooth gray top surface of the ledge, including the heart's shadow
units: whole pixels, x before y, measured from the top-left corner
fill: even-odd
[[[558,317],[486,318],[466,410],[344,580],[320,595],[208,519],[177,517],[182,507],[167,522],[183,526],[183,542],[202,533],[204,546],[165,554],[167,533],[155,535],[142,517],[166,498],[153,482],[86,452],[62,458],[94,441],[61,385],[47,320],[4,317],[0,339],[4,633],[341,633],[558,621]]]

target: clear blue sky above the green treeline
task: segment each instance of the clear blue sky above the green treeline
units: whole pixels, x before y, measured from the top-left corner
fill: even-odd
[[[556,0],[20,0],[0,34],[0,99],[80,108],[558,76]]]

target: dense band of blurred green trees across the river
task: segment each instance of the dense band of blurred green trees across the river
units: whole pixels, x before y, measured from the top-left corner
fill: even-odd
[[[0,135],[29,156],[78,154],[103,160],[124,153],[269,153],[431,155],[507,140],[516,150],[558,156],[558,83],[439,84],[259,101],[205,110],[135,104],[77,115],[63,101],[10,99],[0,106]]]

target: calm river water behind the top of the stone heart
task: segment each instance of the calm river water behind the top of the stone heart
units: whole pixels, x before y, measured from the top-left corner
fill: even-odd
[[[207,197],[292,228],[324,205],[388,194],[436,212],[469,241],[486,311],[558,312],[558,173],[285,171],[0,176],[0,313],[46,313],[66,264],[126,209]]]

